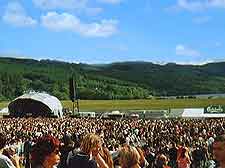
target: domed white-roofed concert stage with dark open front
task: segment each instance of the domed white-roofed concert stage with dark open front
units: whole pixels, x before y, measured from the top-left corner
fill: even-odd
[[[31,92],[13,100],[9,106],[10,116],[15,117],[62,117],[62,104],[47,93]]]

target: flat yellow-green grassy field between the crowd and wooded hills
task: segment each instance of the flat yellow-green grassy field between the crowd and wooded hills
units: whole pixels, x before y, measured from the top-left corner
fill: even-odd
[[[0,102],[0,109],[9,102]],[[64,108],[72,109],[71,101],[62,101]],[[168,99],[168,100],[80,100],[80,111],[144,110],[168,108],[201,108],[225,105],[225,99]]]

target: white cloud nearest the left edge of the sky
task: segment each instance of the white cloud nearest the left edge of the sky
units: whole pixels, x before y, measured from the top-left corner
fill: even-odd
[[[18,2],[8,3],[2,19],[8,24],[19,27],[29,27],[37,24],[37,21],[28,16],[23,6]]]

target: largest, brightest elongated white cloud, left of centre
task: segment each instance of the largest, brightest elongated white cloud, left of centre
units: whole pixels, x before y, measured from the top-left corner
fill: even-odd
[[[44,27],[54,31],[73,31],[87,37],[108,37],[118,32],[117,20],[102,20],[100,23],[83,23],[74,15],[48,12],[41,17]]]

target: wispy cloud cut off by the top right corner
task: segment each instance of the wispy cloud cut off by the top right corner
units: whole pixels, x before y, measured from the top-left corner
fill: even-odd
[[[225,0],[177,0],[177,4],[171,8],[191,12],[203,11],[209,8],[225,8]]]

